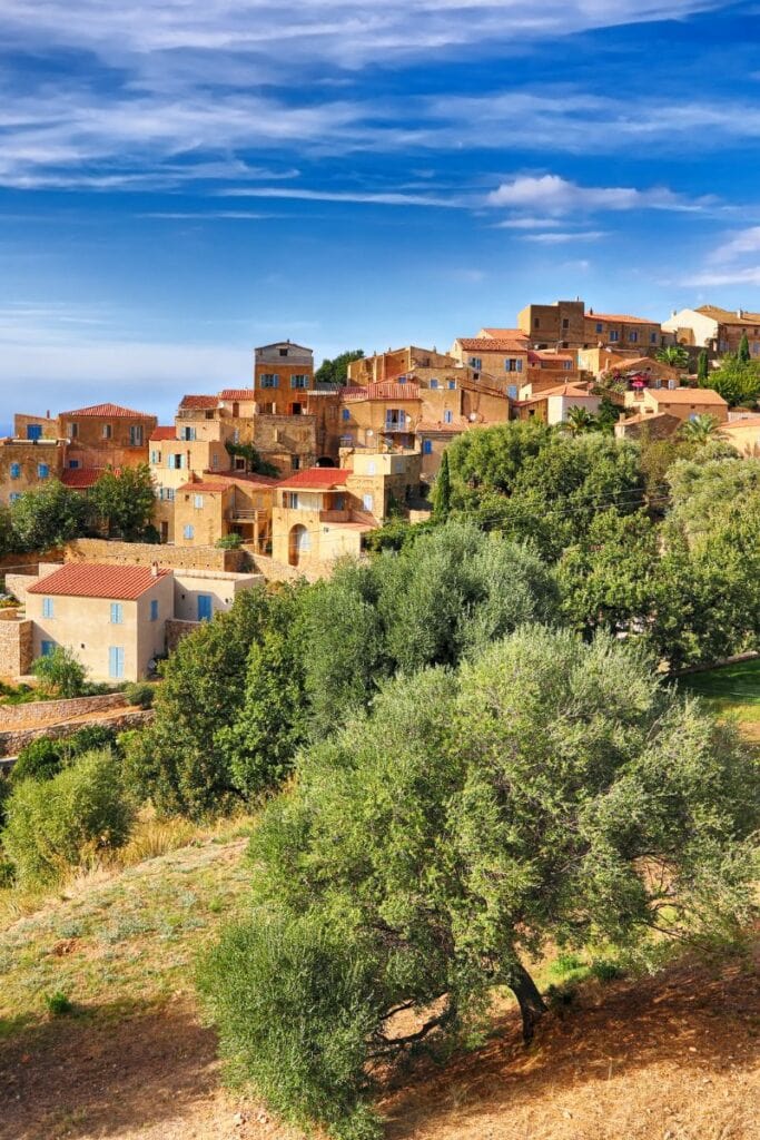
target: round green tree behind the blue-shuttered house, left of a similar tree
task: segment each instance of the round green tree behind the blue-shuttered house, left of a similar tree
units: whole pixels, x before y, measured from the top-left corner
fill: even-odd
[[[87,496],[54,479],[16,499],[10,521],[15,551],[49,551],[87,534],[91,508]]]

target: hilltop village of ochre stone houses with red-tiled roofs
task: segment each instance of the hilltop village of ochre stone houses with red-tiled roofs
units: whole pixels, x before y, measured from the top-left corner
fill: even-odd
[[[55,481],[87,497],[105,472],[147,470],[154,545],[82,539],[33,575],[7,559],[25,610],[3,625],[0,675],[64,645],[96,679],[145,676],[252,583],[328,575],[389,519],[427,519],[447,447],[484,426],[533,420],[636,440],[696,424],[760,454],[754,401],[736,407],[711,381],[726,360],[760,360],[760,314],[703,306],[657,323],[578,299],[529,304],[516,327],[458,335],[448,352],[348,356],[326,382],[310,348],[262,345],[250,388],[182,394],[172,424],[109,401],[16,414],[0,504]],[[117,644],[100,636],[114,618]]]

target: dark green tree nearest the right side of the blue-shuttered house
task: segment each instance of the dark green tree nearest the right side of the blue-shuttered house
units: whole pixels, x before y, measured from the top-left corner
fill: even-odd
[[[195,629],[163,663],[155,719],[130,740],[124,758],[131,785],[160,812],[201,819],[245,799],[218,734],[243,706],[248,653],[269,609],[263,588],[244,591],[229,612]]]

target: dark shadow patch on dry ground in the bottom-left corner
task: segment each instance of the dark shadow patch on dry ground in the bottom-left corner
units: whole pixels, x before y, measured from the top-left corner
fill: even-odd
[[[84,1009],[0,1041],[0,1137],[141,1135],[218,1085],[215,1035],[187,1004]]]

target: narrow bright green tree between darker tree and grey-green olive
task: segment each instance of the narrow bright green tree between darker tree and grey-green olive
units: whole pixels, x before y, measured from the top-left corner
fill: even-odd
[[[214,735],[230,781],[246,799],[281,783],[307,739],[302,642],[294,632],[300,606],[297,588],[271,596],[265,628],[248,650],[243,703],[232,724]]]

